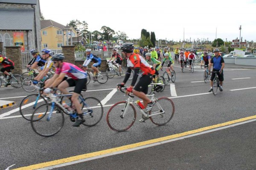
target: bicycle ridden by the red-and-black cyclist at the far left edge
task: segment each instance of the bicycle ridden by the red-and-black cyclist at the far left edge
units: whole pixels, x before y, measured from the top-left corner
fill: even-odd
[[[14,88],[20,88],[22,86],[23,77],[21,75],[14,75],[12,72],[9,72],[9,74],[12,76],[7,80],[7,78],[4,77],[4,75],[0,76],[0,87],[2,86],[2,83],[4,86],[11,85]]]

